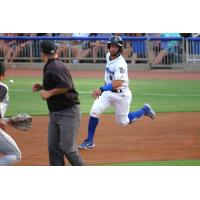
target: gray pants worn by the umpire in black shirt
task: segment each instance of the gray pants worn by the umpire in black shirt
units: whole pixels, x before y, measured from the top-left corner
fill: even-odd
[[[64,166],[65,156],[73,166],[84,165],[76,144],[80,118],[79,105],[50,113],[48,127],[50,165]]]

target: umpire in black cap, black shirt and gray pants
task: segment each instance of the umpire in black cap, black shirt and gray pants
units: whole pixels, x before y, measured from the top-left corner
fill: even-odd
[[[53,166],[65,165],[64,157],[73,166],[84,165],[78,152],[76,138],[80,126],[80,101],[72,77],[66,66],[58,59],[57,47],[52,41],[41,43],[43,85],[35,83],[33,92],[47,101],[49,109],[48,150]]]

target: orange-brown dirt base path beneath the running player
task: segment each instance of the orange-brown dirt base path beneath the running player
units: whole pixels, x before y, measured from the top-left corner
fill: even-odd
[[[78,142],[86,136],[87,121],[88,116],[84,115]],[[199,121],[200,113],[162,113],[156,120],[144,117],[135,124],[119,127],[113,115],[103,115],[95,136],[95,149],[82,150],[81,155],[87,165],[200,159]],[[48,117],[34,117],[29,133],[8,129],[22,151],[18,165],[48,165],[47,124]]]

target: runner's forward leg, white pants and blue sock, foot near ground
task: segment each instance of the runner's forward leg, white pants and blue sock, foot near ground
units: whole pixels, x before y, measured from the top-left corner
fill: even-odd
[[[109,99],[110,97],[108,94],[109,91],[105,91],[98,99],[94,101],[88,122],[88,135],[84,142],[78,146],[79,149],[95,147],[94,134],[99,123],[99,117],[107,108],[111,106]]]

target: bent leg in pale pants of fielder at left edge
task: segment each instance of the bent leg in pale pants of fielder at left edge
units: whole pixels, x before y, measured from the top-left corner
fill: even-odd
[[[21,160],[21,152],[11,136],[0,129],[0,165],[13,165]]]

